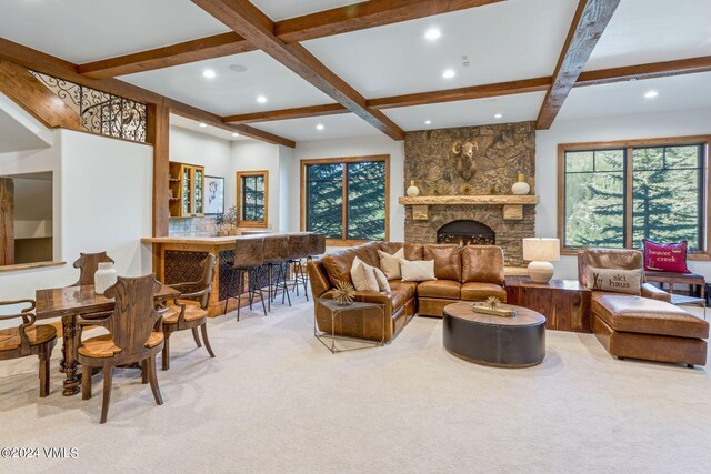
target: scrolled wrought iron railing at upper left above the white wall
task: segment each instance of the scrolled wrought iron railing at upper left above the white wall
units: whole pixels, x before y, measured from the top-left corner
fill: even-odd
[[[53,75],[30,71],[68,107],[79,113],[81,128],[103,135],[146,142],[144,103],[76,84]]]

